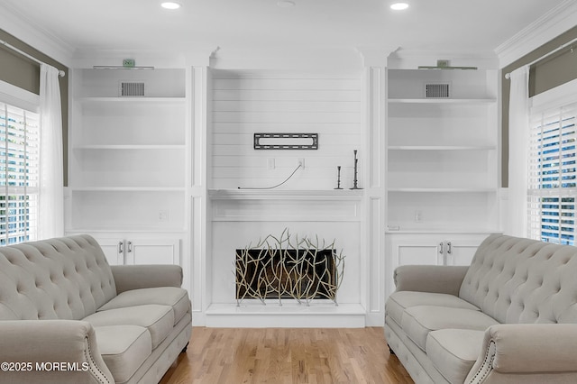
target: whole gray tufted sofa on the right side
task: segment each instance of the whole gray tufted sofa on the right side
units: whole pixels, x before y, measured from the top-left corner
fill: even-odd
[[[385,337],[417,383],[577,382],[576,247],[494,234],[395,283]]]

